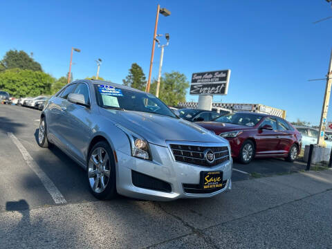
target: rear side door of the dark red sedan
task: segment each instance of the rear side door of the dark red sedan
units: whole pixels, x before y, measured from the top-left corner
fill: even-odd
[[[277,118],[277,132],[280,139],[277,150],[280,154],[286,154],[295,140],[294,133],[282,118]]]

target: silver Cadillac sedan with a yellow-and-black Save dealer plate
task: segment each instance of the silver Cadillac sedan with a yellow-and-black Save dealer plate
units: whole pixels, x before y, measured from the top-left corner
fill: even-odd
[[[38,143],[56,145],[86,169],[98,199],[210,197],[232,187],[227,140],[176,116],[154,95],[78,80],[42,111]]]

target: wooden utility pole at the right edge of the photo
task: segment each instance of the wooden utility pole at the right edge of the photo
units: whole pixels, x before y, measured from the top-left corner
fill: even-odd
[[[326,87],[325,87],[325,95],[322,107],[322,116],[320,118],[320,132],[318,133],[317,145],[321,147],[325,147],[325,127],[326,127],[326,118],[327,118],[327,111],[329,110],[329,102],[330,102],[330,95],[331,95],[331,84],[332,84],[332,50],[330,56],[330,64],[329,64],[329,71],[326,75]]]

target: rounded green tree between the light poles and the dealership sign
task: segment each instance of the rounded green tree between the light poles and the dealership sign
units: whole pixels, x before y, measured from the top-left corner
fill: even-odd
[[[156,94],[156,86],[157,81],[154,80],[151,84],[151,93]],[[178,102],[185,102],[188,87],[189,82],[183,73],[174,71],[164,73],[163,77],[160,77],[159,98],[165,104],[176,107]]]

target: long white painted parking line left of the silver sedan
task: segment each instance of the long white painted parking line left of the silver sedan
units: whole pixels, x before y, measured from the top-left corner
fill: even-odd
[[[10,137],[12,142],[15,143],[15,145],[21,152],[24,160],[26,160],[26,164],[31,169],[33,169],[33,172],[35,172],[35,174],[37,174],[37,176],[39,177],[40,181],[42,181],[44,187],[46,188],[48,193],[50,193],[50,196],[52,196],[53,201],[56,204],[67,203],[66,200],[64,199],[64,196],[59,192],[57,187],[55,187],[53,181],[50,181],[50,178],[48,178],[48,176],[45,174],[45,172],[43,172],[43,170],[37,165],[37,163],[35,163],[35,160],[33,160],[33,158],[30,156],[29,152],[26,150],[26,148],[24,148],[24,146],[21,144],[21,142],[19,142],[17,137],[11,132],[8,132],[8,136]]]

